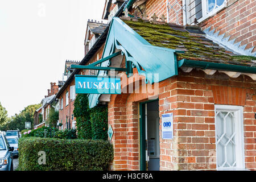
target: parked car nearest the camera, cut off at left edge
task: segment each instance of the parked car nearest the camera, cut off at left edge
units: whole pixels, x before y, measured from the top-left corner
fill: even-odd
[[[13,171],[13,151],[5,135],[0,134],[0,171]]]

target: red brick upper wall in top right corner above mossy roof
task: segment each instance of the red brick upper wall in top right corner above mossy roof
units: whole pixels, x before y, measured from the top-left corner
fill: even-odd
[[[200,26],[205,29],[210,26],[220,31],[219,35],[231,36],[229,40],[237,38],[241,46],[247,44],[247,48],[256,46],[256,1],[228,0],[228,6],[204,20]],[[256,49],[254,48],[254,51]]]

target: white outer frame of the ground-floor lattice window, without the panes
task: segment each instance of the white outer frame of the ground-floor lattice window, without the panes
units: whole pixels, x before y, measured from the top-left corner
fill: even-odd
[[[217,170],[244,170],[245,169],[245,144],[243,138],[243,107],[242,106],[233,106],[233,105],[214,105],[215,108],[215,129],[216,126],[216,113],[217,111],[234,111],[234,119],[235,119],[235,142],[236,142],[236,167],[234,168],[220,168],[217,164],[218,154],[216,151],[216,166]],[[217,132],[215,132],[216,139],[216,150],[217,150]]]

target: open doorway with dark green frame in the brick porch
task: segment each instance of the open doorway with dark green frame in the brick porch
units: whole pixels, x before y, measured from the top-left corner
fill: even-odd
[[[159,171],[159,104],[158,100],[142,103],[141,115],[141,170]]]

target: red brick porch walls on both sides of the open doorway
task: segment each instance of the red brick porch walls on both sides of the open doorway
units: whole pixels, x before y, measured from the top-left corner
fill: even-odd
[[[160,125],[160,170],[216,169],[214,104],[244,107],[245,164],[255,170],[255,90],[256,82],[250,77],[230,78],[224,73],[208,76],[195,69],[191,73],[179,71],[179,76],[160,82],[159,117],[174,113],[174,140],[161,138]],[[139,169],[138,104],[148,97],[133,93],[110,98],[113,170]]]

